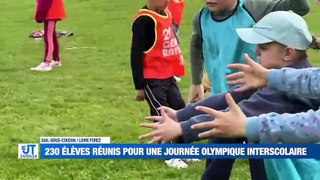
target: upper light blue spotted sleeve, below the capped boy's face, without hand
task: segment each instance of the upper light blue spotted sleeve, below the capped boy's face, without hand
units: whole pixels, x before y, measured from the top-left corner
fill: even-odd
[[[318,99],[320,97],[320,69],[273,69],[269,73],[268,87],[289,94]]]

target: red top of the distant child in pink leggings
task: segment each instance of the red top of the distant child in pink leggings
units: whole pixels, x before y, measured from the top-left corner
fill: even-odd
[[[41,23],[45,20],[62,20],[66,18],[63,0],[37,0],[35,19]]]

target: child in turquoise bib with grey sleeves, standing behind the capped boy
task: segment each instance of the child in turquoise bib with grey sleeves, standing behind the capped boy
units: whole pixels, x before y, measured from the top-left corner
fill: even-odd
[[[227,68],[228,64],[244,63],[243,54],[255,57],[256,46],[242,41],[236,28],[249,28],[264,15],[279,10],[293,10],[300,15],[309,12],[307,0],[205,0],[206,6],[193,19],[193,32],[190,42],[190,61],[192,85],[189,92],[189,102],[196,102],[204,98],[201,85],[203,67],[205,65],[211,84],[211,95],[224,93],[230,89],[225,76],[235,71]],[[211,140],[210,140],[211,141]],[[214,141],[214,140],[213,140]],[[228,179],[233,163],[223,159],[208,160],[217,162],[214,169],[222,164],[223,171],[216,171],[217,179]],[[250,161],[251,162],[251,161]],[[262,166],[258,160],[251,164],[255,174],[262,174]],[[209,162],[207,162],[208,164]],[[220,164],[221,163],[221,164]],[[260,165],[259,165],[260,164]],[[224,175],[223,175],[224,174]],[[259,179],[260,177],[253,177]]]

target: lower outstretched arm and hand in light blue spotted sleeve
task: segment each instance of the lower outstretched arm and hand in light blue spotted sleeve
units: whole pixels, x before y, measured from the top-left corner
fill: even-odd
[[[206,107],[199,110],[215,117],[213,121],[192,126],[194,130],[207,130],[199,138],[247,137],[260,143],[317,143],[320,141],[320,110],[297,114],[269,113],[246,118],[228,94],[230,110],[216,111]]]

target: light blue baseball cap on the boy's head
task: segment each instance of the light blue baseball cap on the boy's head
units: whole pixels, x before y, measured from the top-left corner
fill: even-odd
[[[278,42],[306,50],[312,36],[304,19],[292,11],[275,11],[264,16],[253,28],[236,29],[239,37],[250,44]]]

